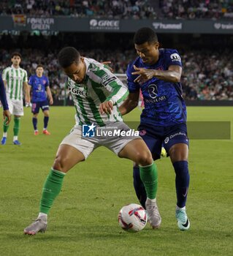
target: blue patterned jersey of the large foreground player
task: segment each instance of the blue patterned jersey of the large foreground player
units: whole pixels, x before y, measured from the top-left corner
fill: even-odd
[[[156,64],[148,65],[140,57],[132,61],[127,68],[129,92],[142,90],[145,108],[141,114],[141,124],[150,126],[172,126],[186,122],[186,105],[182,97],[180,83],[171,83],[158,78],[152,78],[145,83],[134,83],[138,75],[131,75],[136,67],[147,69],[168,70],[169,66],[182,67],[180,55],[174,49],[159,49],[159,59]]]

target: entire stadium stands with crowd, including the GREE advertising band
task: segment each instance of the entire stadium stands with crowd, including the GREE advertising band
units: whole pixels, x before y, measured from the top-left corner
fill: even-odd
[[[112,61],[115,73],[125,73],[136,56],[134,31],[150,26],[158,32],[162,48],[176,48],[182,56],[188,105],[232,105],[232,8],[232,0],[4,0],[0,72],[10,64],[10,53],[18,50],[28,76],[43,64],[55,104],[66,104],[66,78],[56,59],[61,48],[72,45],[83,56]]]

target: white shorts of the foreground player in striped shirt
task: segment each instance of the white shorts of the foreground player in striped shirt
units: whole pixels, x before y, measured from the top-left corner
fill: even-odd
[[[112,124],[108,124],[105,127],[96,127],[96,136],[94,137],[83,137],[82,127],[79,125],[75,125],[75,127],[71,130],[69,135],[67,135],[64,140],[62,140],[61,144],[66,144],[69,146],[73,146],[77,148],[78,151],[83,153],[85,159],[91,154],[91,152],[98,148],[99,146],[105,146],[113,151],[115,154],[119,154],[121,149],[126,146],[131,140],[141,139],[139,135],[114,135],[114,136],[99,136],[102,135],[103,131],[118,129],[120,131],[129,131],[131,130],[126,124],[123,122],[115,122]],[[98,131],[97,131],[98,130]],[[98,134],[98,136],[97,136]]]

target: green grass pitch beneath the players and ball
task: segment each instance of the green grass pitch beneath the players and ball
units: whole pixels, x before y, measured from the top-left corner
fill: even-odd
[[[232,107],[189,107],[188,120],[232,123],[232,113]],[[139,115],[140,110],[134,110],[125,120],[138,121]],[[7,145],[0,146],[1,256],[232,255],[233,140],[191,140],[187,232],[178,230],[175,220],[175,173],[169,158],[156,161],[161,228],[147,225],[139,233],[121,230],[118,211],[137,203],[132,164],[102,147],[66,175],[47,232],[23,235],[23,228],[37,217],[42,184],[58,144],[75,123],[74,116],[72,107],[52,107],[52,135],[34,136],[26,108],[19,136],[22,146],[12,145],[13,121],[10,124]]]

